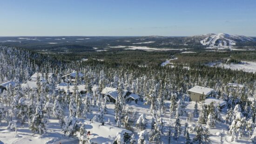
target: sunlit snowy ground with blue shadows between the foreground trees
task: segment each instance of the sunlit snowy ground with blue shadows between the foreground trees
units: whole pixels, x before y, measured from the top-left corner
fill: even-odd
[[[127,103],[127,108],[130,111],[134,111],[135,114],[135,121],[139,118],[139,116],[144,113],[146,116],[146,130],[148,133],[150,132],[150,123],[151,123],[151,115],[149,113],[149,105],[143,105],[144,102],[139,101],[138,104],[135,104],[134,102],[129,102]],[[164,114],[162,112],[162,118],[164,121],[164,125],[167,126],[169,123],[169,107],[170,101],[165,101],[165,105],[167,106],[166,113]],[[186,112],[193,112],[195,102],[186,102],[187,107],[185,109]],[[115,104],[108,103],[107,104],[108,108],[108,114],[105,114],[105,122],[106,124],[116,126],[115,123],[115,118],[114,118],[114,108]],[[200,108],[199,108],[200,109]],[[88,119],[93,118],[95,115],[98,115],[99,112],[97,111],[97,107],[92,108],[92,114],[88,114]],[[67,115],[67,109],[65,110],[65,115]],[[221,112],[222,118],[225,119],[225,111],[226,109],[223,109]],[[81,121],[84,120],[84,118],[79,118]],[[108,123],[108,119],[110,122]],[[186,123],[187,116],[184,114],[183,116],[180,117],[181,119],[181,124],[182,124],[182,129],[184,129],[184,124]],[[171,117],[172,121],[172,129],[174,131],[174,126],[175,126],[175,116],[173,115]],[[195,124],[197,122],[197,118],[192,119],[189,121],[189,128],[193,129]],[[206,124],[203,124],[203,126],[206,126]],[[230,137],[228,134],[228,128],[229,126],[224,123],[217,123],[215,128],[211,128],[209,130],[210,133],[210,140],[212,144],[220,144],[220,136],[216,135],[217,132],[220,132],[222,129],[224,130],[224,144],[249,144],[250,142],[246,139],[240,139],[237,142],[230,142]],[[133,125],[133,131],[135,134],[136,139],[138,138],[138,133],[141,131],[140,129],[136,128],[135,125]],[[168,144],[168,137],[166,134],[167,130],[163,130],[163,136],[162,136],[162,142],[163,144]],[[7,123],[3,121],[3,123],[0,125],[0,140],[4,144],[77,144],[78,143],[78,138],[77,137],[65,137],[64,133],[61,131],[61,127],[59,126],[58,119],[51,118],[49,119],[49,124],[47,125],[47,133],[40,136],[39,134],[34,134],[28,129],[28,125],[25,124],[24,128],[19,127],[17,130],[17,133],[19,137],[14,138],[15,132],[14,131],[9,131],[7,130]],[[92,131],[92,136],[93,136],[93,131]],[[92,137],[91,136],[91,137]],[[192,131],[189,131],[189,136],[191,139],[195,137],[195,133]],[[185,138],[183,137],[183,131],[178,140],[174,140],[172,138],[171,144],[181,144],[184,143]]]

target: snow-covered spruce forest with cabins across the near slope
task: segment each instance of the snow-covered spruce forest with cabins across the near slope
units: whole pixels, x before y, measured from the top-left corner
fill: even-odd
[[[0,49],[0,144],[256,144],[255,73]],[[189,101],[195,85],[225,105]]]

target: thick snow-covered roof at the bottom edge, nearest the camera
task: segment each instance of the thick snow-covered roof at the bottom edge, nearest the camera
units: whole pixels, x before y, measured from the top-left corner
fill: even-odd
[[[117,133],[132,133],[132,131],[128,131],[126,129],[118,128],[108,124],[101,125],[101,123],[90,122],[88,120],[85,120],[84,124],[86,124],[86,130],[90,131],[88,141],[89,144],[113,144]]]

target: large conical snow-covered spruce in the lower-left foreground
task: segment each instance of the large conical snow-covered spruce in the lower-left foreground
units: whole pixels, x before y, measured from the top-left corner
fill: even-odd
[[[29,129],[31,131],[39,134],[44,134],[46,132],[45,124],[47,123],[47,118],[45,118],[44,113],[43,102],[41,101],[41,98],[39,98],[35,109],[34,118],[29,125]]]

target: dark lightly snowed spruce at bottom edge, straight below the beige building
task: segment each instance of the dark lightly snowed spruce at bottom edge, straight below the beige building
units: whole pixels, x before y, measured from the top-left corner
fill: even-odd
[[[201,124],[197,124],[193,144],[210,144],[209,131]]]

